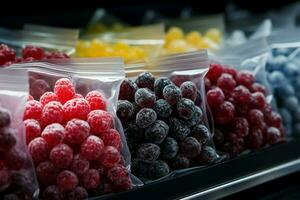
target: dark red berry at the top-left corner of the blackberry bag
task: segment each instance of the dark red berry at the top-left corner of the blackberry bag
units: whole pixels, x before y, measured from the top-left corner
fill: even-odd
[[[132,80],[126,78],[120,86],[119,99],[133,101],[137,89],[137,85]]]

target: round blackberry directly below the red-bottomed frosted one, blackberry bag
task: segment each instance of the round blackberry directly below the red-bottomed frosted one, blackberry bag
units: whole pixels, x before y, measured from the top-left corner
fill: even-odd
[[[140,128],[146,128],[153,124],[157,118],[156,112],[150,108],[141,109],[136,115],[136,124]]]

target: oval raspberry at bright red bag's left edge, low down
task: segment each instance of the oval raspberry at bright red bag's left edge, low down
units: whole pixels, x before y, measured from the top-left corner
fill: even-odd
[[[41,138],[35,138],[28,145],[28,151],[36,164],[48,159],[49,147],[47,142]]]

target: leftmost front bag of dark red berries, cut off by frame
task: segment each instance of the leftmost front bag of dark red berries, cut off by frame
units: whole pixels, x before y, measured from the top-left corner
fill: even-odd
[[[39,187],[25,143],[27,72],[0,71],[0,199],[37,199]]]

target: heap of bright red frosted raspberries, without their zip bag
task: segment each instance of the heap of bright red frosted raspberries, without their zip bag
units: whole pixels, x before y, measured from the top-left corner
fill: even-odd
[[[54,92],[29,100],[24,113],[28,151],[43,199],[85,199],[88,192],[124,191],[131,179],[124,167],[120,134],[99,91],[85,98],[61,78]]]

